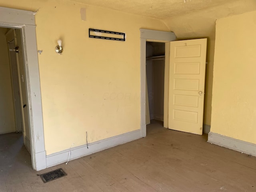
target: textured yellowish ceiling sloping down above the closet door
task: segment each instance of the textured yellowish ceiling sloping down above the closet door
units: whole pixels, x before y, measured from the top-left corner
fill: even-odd
[[[214,36],[218,18],[256,10],[256,0],[71,0],[157,18],[178,38]]]

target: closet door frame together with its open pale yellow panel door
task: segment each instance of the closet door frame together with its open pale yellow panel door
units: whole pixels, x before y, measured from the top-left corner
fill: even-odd
[[[147,41],[165,42],[164,127],[201,135],[207,39],[174,41],[176,36],[172,32],[146,29],[140,29],[140,32],[141,136],[146,136],[146,109],[149,108],[146,94]]]

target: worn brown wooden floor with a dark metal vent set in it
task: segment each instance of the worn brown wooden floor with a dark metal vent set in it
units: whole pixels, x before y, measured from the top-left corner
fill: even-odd
[[[145,138],[36,172],[22,135],[0,135],[0,192],[256,191],[256,158],[206,140],[154,121]],[[57,168],[68,175],[37,176]]]

